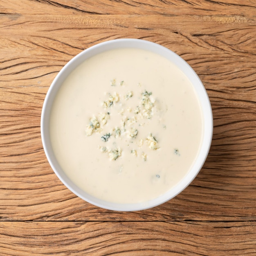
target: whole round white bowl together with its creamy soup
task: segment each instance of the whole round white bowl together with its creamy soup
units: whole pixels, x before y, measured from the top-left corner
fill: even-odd
[[[207,92],[180,56],[116,39],[75,56],[43,104],[41,136],[58,178],[115,211],[162,204],[202,168],[213,133]]]

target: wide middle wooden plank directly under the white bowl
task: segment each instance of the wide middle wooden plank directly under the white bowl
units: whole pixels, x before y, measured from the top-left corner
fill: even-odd
[[[181,9],[179,16],[152,14],[151,7],[146,8],[151,13],[147,16],[50,15],[38,6],[53,12],[63,8],[22,1],[37,13],[30,15],[22,14],[21,2],[16,7],[2,3],[10,13],[18,13],[0,16],[2,220],[256,219],[256,20],[248,1],[241,8],[250,11],[243,16],[229,16],[229,11],[224,16],[188,16],[185,2],[186,11]],[[161,1],[157,4],[164,7]],[[212,4],[218,11],[223,7]],[[40,114],[50,83],[70,58],[96,43],[127,37],[160,43],[188,61],[209,93],[214,134],[202,171],[177,198],[147,211],[117,213],[83,202],[61,184],[43,152]]]

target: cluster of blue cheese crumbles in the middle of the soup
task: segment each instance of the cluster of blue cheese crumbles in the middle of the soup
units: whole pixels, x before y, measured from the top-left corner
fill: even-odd
[[[115,86],[117,91],[119,86],[126,86],[124,81],[117,83],[116,79],[112,79],[111,86]],[[142,87],[139,84],[139,87]],[[87,136],[93,135],[93,133],[100,133],[100,139],[103,144],[107,146],[99,146],[99,149],[102,153],[108,153],[108,157],[110,160],[117,160],[117,158],[121,157],[122,153],[125,152],[126,148],[120,148],[118,146],[119,139],[124,140],[126,136],[126,146],[128,150],[130,150],[130,154],[134,157],[138,155],[141,157],[143,161],[147,160],[147,154],[142,150],[145,149],[146,145],[151,150],[157,150],[160,148],[157,139],[150,134],[144,134],[143,126],[146,124],[146,120],[151,120],[154,114],[155,107],[155,99],[153,97],[152,92],[148,92],[147,90],[138,92],[138,95],[134,94],[132,91],[127,91],[124,95],[120,95],[117,92],[112,94],[106,93],[107,99],[102,102],[101,106],[103,110],[108,109],[108,112],[100,112],[98,114],[98,118],[93,116],[88,126],[86,127],[85,134]],[[136,107],[127,106],[129,104],[129,99],[132,97],[137,97],[138,99]],[[123,102],[123,100],[126,102]],[[111,127],[111,109],[115,108],[116,104],[118,106],[118,115],[120,116],[120,126],[114,126],[110,128],[110,130],[103,132],[103,126],[108,124]],[[122,108],[122,106],[126,106]],[[121,109],[121,110],[120,110]],[[125,109],[125,110],[124,110]],[[128,112],[128,116],[125,114]],[[106,127],[107,127],[106,126]],[[112,146],[109,146],[112,143]],[[130,147],[132,149],[129,149]],[[138,154],[138,150],[140,153]]]

